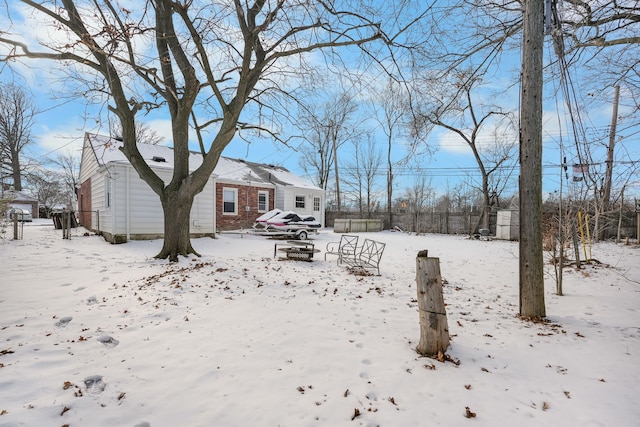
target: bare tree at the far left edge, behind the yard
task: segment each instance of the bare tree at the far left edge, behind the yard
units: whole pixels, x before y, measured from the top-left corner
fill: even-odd
[[[23,88],[0,84],[0,173],[3,178],[11,177],[16,191],[22,191],[25,165],[21,156],[24,148],[33,143],[31,128],[35,116],[36,108]]]

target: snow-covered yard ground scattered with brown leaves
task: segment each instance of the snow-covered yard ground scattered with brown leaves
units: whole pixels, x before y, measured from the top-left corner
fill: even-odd
[[[0,426],[636,426],[640,249],[599,243],[549,322],[518,313],[518,243],[362,233],[381,276],[274,241],[110,245],[51,223],[0,244]],[[415,257],[440,258],[455,362],[420,357]],[[468,408],[468,410],[466,409]],[[475,414],[475,417],[470,415]]]

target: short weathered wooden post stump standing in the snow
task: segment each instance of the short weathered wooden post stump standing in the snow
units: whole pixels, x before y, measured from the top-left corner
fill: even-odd
[[[416,258],[420,342],[416,350],[423,356],[437,356],[449,346],[449,325],[442,296],[440,258],[429,258],[427,251]]]

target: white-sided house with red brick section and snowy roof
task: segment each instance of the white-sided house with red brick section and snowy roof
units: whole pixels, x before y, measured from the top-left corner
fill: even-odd
[[[87,133],[80,162],[78,219],[112,243],[156,239],[164,233],[159,197],[138,176],[120,147],[122,141]],[[138,144],[154,171],[168,182],[173,149]],[[192,152],[191,168],[202,161]],[[287,169],[221,157],[214,174],[191,209],[191,235],[214,236],[219,230],[249,228],[274,208],[314,215],[324,226],[324,190]]]

